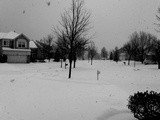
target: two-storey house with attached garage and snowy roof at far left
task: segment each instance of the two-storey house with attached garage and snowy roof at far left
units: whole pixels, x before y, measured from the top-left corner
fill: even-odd
[[[29,63],[31,50],[29,38],[23,33],[0,33],[0,46],[3,61],[8,63]]]

